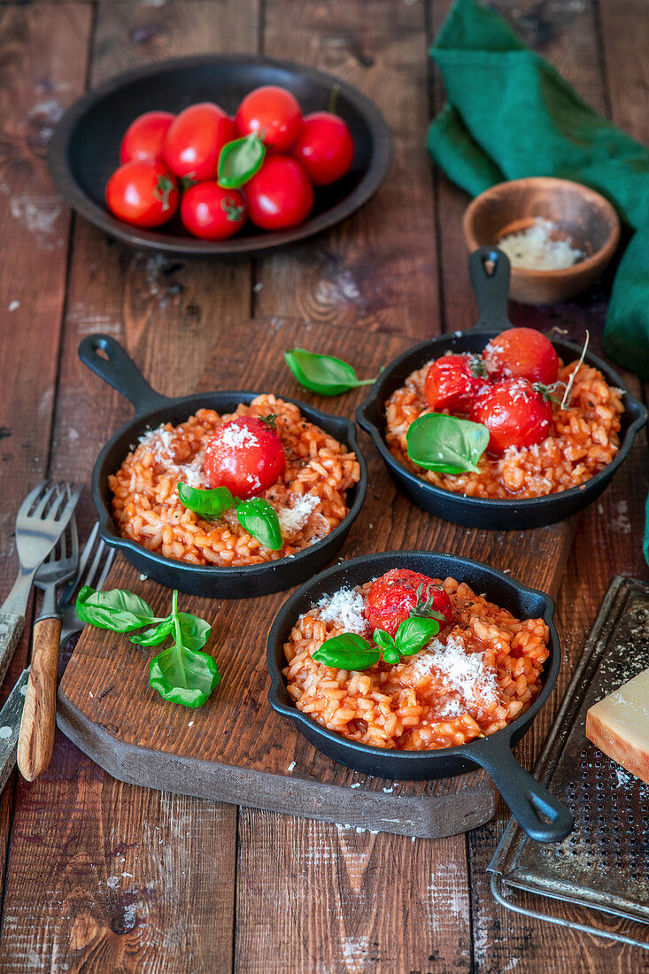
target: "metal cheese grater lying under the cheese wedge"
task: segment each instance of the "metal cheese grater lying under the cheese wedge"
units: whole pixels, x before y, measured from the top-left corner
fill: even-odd
[[[619,920],[607,928],[602,913],[649,924],[649,785],[602,754],[585,729],[592,703],[648,666],[649,585],[618,576],[534,771],[568,806],[574,831],[562,843],[534,843],[512,819],[487,867],[503,906],[646,950],[649,926],[646,934]],[[543,897],[538,910],[527,893]],[[548,899],[586,908],[583,921],[555,916]]]

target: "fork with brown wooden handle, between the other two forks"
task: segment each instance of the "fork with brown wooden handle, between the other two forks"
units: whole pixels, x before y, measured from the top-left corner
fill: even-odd
[[[37,778],[52,758],[57,725],[57,662],[61,628],[57,612],[57,585],[71,579],[78,566],[79,537],[76,518],[72,517],[69,527],[60,536],[34,579],[34,584],[42,588],[45,594],[40,615],[34,622],[31,666],[19,733],[18,766],[27,781]]]

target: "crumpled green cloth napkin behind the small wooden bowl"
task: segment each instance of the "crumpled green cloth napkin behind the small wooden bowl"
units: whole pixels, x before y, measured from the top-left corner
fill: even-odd
[[[428,148],[476,196],[521,176],[587,183],[636,231],[604,328],[607,355],[649,380],[649,149],[602,118],[543,57],[476,0],[456,0],[431,48],[448,104]]]

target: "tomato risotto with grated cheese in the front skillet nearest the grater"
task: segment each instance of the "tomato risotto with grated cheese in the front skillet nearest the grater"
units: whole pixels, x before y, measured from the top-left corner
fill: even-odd
[[[542,618],[517,619],[464,582],[435,580],[453,608],[419,652],[362,672],[313,659],[343,632],[368,636],[372,582],[325,596],[297,619],[285,645],[288,693],[329,731],[374,747],[429,751],[494,733],[528,709],[549,656]]]

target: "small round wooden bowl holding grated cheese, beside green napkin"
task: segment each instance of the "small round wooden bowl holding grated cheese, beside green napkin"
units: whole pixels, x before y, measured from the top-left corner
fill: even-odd
[[[534,225],[537,217],[556,224],[555,239],[571,238],[586,258],[559,271],[512,266],[510,297],[522,304],[565,301],[596,281],[620,242],[620,220],[608,200],[581,183],[533,176],[498,183],[467,206],[463,229],[469,252],[494,246]]]

